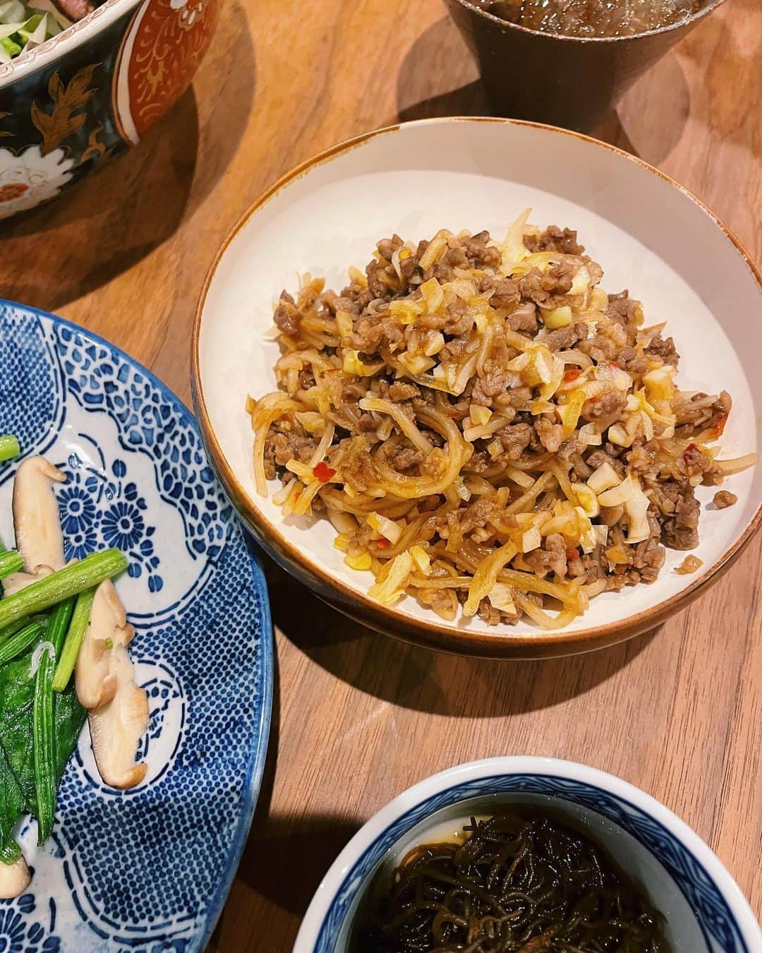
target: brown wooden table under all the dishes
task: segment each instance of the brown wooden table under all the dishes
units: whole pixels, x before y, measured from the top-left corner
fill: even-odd
[[[730,0],[598,134],[658,165],[762,263],[762,9]],[[86,189],[0,239],[0,294],[64,314],[189,400],[193,306],[231,224],[292,165],[403,119],[488,112],[437,0],[231,0],[194,88]],[[721,276],[718,276],[721,279]],[[758,320],[750,315],[750,320]],[[660,631],[588,657],[470,661],[337,615],[271,572],[279,672],[259,809],[211,948],[291,948],[339,849],[434,771],[536,754],[668,804],[762,908],[762,536]]]

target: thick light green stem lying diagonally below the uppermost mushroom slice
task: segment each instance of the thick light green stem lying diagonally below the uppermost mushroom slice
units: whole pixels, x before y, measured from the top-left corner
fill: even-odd
[[[16,618],[50,609],[70,596],[92,589],[104,579],[118,576],[125,569],[127,559],[118,549],[91,553],[81,562],[74,562],[38,582],[32,582],[21,592],[0,599],[0,629]]]

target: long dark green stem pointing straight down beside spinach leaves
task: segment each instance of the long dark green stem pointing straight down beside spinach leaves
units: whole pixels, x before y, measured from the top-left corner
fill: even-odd
[[[55,820],[55,734],[53,731],[53,669],[50,646],[43,648],[34,677],[31,735],[34,788],[37,797],[37,843],[50,837]]]

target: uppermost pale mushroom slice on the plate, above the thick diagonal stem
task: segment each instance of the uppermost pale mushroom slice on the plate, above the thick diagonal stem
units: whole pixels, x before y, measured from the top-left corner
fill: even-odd
[[[16,471],[13,481],[13,528],[24,569],[32,576],[62,569],[64,535],[53,483],[66,476],[44,456],[31,456]]]

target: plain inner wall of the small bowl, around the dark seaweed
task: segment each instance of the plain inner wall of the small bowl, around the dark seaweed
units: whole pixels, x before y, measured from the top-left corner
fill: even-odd
[[[648,847],[637,841],[626,830],[597,811],[583,804],[563,798],[539,794],[499,794],[471,798],[450,804],[416,824],[397,841],[358,892],[349,910],[336,943],[335,953],[357,953],[350,945],[351,933],[358,910],[368,896],[373,877],[381,868],[389,873],[399,865],[413,847],[419,844],[454,840],[471,815],[479,819],[494,814],[511,813],[522,806],[547,810],[554,821],[569,823],[573,829],[589,837],[616,864],[622,873],[636,885],[655,910],[664,917],[664,936],[674,953],[709,953],[701,927],[691,906],[666,868],[652,855]]]

